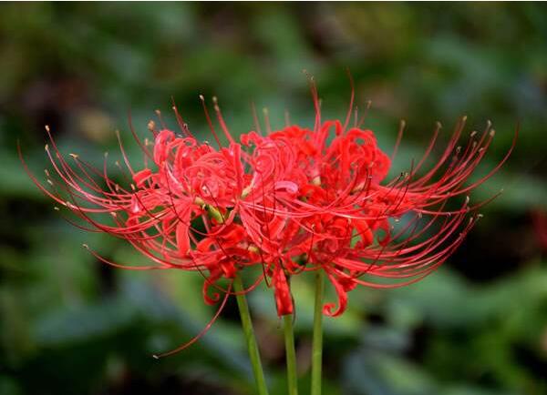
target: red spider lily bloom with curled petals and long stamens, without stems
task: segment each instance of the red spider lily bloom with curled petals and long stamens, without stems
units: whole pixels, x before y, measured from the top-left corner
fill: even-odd
[[[129,187],[108,176],[106,157],[98,169],[76,155],[63,155],[48,129],[46,154],[57,177],[46,171],[47,188],[29,174],[47,196],[92,226],[82,228],[124,238],[152,262],[122,265],[91,250],[109,265],[198,271],[205,279],[205,301],[215,303],[224,293],[222,306],[233,291],[219,281],[259,266],[262,274],[245,292],[265,280],[274,288],[280,316],[294,311],[291,277],[324,270],[338,296],[324,312],[337,316],[346,309],[347,292],[357,285],[400,287],[439,268],[480,218],[471,214],[466,219],[468,214],[488,202],[470,206],[470,191],[500,169],[515,140],[486,176],[466,184],[494,131],[489,124],[459,147],[462,118],[434,165],[424,168],[440,126],[423,157],[408,172],[385,181],[403,128],[388,157],[362,122],[349,127],[353,95],[342,123],[323,122],[315,86],[313,94],[313,128],[287,126],[263,136],[256,127],[239,142],[215,101],[227,147],[205,106],[217,148],[198,142],[174,108],[181,135],[166,127],[158,130],[152,122],[153,144],[133,132],[144,167],[136,170],[130,164],[120,142]],[[453,197],[461,197],[457,208],[449,204]],[[399,221],[404,225],[396,229]]]

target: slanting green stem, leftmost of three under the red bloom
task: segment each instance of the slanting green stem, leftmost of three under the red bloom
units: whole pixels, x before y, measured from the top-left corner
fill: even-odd
[[[260,361],[260,353],[258,351],[258,345],[256,344],[256,338],[254,337],[253,322],[251,321],[251,314],[249,314],[249,305],[247,304],[245,295],[241,293],[243,291],[243,283],[239,276],[236,276],[235,279],[233,279],[233,290],[239,293],[235,295],[235,299],[237,299],[237,307],[240,310],[240,316],[242,318],[243,333],[245,335],[245,340],[247,341],[251,365],[253,366],[256,388],[259,395],[268,395],[268,388],[266,387],[266,380],[264,379],[264,372]]]

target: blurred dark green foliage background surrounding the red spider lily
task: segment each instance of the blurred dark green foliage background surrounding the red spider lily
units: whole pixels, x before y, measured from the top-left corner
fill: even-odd
[[[219,96],[234,134],[251,103],[274,127],[284,112],[313,125],[303,69],[326,116],[344,116],[349,67],[357,103],[394,164],[408,169],[435,122],[444,141],[459,116],[497,130],[484,168],[521,136],[510,161],[471,198],[504,193],[456,255],[406,289],[358,289],[325,319],[327,395],[547,393],[547,7],[543,4],[3,4],[0,5],[0,394],[253,393],[235,304],[212,317],[201,278],[107,268],[139,261],[119,240],[71,227],[26,177],[37,175],[44,125],[91,162],[129,155],[171,96],[194,134],[211,138],[198,95]],[[439,151],[437,151],[439,153]],[[111,171],[115,174],[116,167]],[[332,297],[332,294],[330,295]],[[301,391],[308,391],[312,287],[294,285]],[[284,394],[284,346],[270,291],[251,296],[273,394]]]

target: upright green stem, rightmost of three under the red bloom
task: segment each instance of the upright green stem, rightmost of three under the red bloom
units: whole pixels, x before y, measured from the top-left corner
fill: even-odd
[[[321,395],[321,370],[323,363],[323,294],[325,293],[322,269],[315,273],[314,339],[312,343],[312,395]]]

